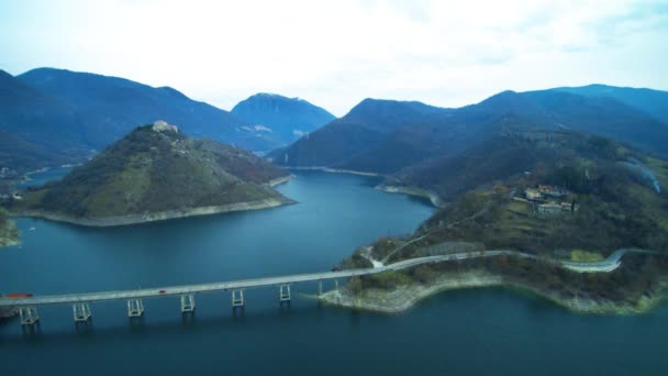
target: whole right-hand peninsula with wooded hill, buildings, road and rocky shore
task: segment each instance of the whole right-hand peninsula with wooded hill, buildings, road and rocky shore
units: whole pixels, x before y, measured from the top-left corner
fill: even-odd
[[[504,286],[582,313],[643,312],[668,291],[667,185],[666,161],[610,139],[505,129],[388,178],[394,190],[438,192],[443,207],[413,234],[381,237],[337,269],[453,257],[352,277],[321,299],[401,312],[443,290]]]

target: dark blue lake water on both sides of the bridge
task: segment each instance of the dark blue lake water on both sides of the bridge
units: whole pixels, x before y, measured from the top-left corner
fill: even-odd
[[[299,172],[278,187],[300,203],[269,210],[88,229],[19,219],[22,245],[0,250],[0,292],[35,295],[163,287],[329,270],[379,236],[416,229],[433,208],[372,189],[378,178]],[[36,179],[37,177],[35,177]],[[34,231],[29,231],[31,228]],[[333,285],[325,284],[325,289]],[[0,324],[3,375],[666,374],[668,306],[642,316],[572,314],[506,289],[447,292],[399,316],[321,306],[292,288],[93,303],[92,324],[70,306],[40,308],[23,333]]]

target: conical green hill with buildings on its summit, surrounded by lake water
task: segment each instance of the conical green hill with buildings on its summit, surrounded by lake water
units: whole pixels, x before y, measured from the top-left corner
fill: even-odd
[[[166,122],[141,126],[12,211],[84,225],[120,225],[290,202],[269,188],[288,173],[249,152],[189,139]]]

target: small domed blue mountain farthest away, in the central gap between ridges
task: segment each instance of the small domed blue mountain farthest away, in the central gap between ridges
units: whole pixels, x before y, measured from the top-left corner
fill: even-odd
[[[238,102],[231,112],[283,145],[336,119],[303,99],[272,93],[256,93]]]

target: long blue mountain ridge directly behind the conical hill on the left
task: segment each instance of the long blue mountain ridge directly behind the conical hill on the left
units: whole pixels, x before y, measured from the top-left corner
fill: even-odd
[[[65,69],[38,68],[18,76],[31,87],[73,109],[85,124],[81,136],[93,148],[121,139],[136,124],[165,119],[197,137],[250,150],[275,146],[245,121],[169,87],[154,88],[124,78]]]

